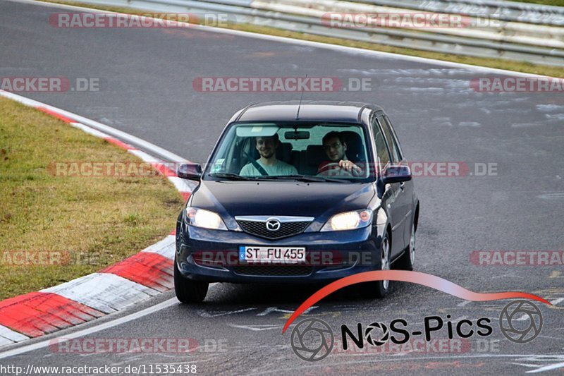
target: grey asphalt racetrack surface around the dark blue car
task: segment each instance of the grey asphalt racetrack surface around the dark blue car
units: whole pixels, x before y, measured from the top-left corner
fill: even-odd
[[[474,250],[564,250],[564,101],[555,93],[480,93],[472,78],[492,73],[398,56],[337,51],[204,30],[63,29],[48,23],[59,8],[0,2],[0,77],[95,78],[99,91],[25,92],[204,162],[231,114],[252,102],[298,99],[299,93],[198,92],[202,77],[369,78],[372,90],[305,93],[306,99],[373,102],[386,109],[408,159],[494,163],[497,176],[416,178],[421,200],[417,267],[479,292],[525,291],[540,305],[541,334],[513,344],[497,325],[508,301],[467,303],[415,284],[393,283],[391,296],[367,301],[341,291],[304,317],[342,324],[424,317],[454,322],[491,317],[491,336],[468,351],[403,353],[333,351],[300,360],[281,327],[313,293],[304,286],[215,284],[200,305],[173,304],[88,338],[191,338],[200,348],[176,353],[58,353],[41,348],[0,365],[197,365],[200,374],[364,374],[405,372],[515,374],[564,362],[564,275],[555,266],[477,266]],[[120,315],[154,305],[165,293]],[[106,317],[104,320],[111,320]],[[299,319],[300,320],[300,319]],[[526,320],[525,320],[526,322]],[[95,326],[98,322],[87,325]],[[82,329],[84,326],[80,327]],[[63,335],[77,329],[68,329]],[[61,335],[59,333],[58,335]],[[446,330],[437,338],[445,339]],[[51,337],[47,337],[51,338]],[[29,342],[28,342],[29,343]],[[561,372],[564,365],[551,372]],[[148,370],[148,368],[147,368]],[[46,372],[45,374],[49,374]]]

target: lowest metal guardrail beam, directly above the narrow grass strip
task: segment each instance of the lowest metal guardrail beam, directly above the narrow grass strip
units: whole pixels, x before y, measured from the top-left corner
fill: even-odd
[[[305,32],[325,37],[337,37],[393,47],[405,47],[443,54],[489,57],[514,61],[528,61],[551,66],[564,66],[564,51],[508,42],[476,40],[473,38],[439,35],[415,30],[386,28],[341,29],[324,26],[319,18],[294,16],[277,11],[250,8],[245,0],[81,0],[82,3],[123,6],[154,12],[194,13],[204,16],[209,13],[227,14],[235,23],[268,26],[295,32]],[[220,2],[221,1],[221,2]],[[223,4],[228,2],[229,4]],[[236,4],[236,5],[235,5]],[[241,6],[243,5],[243,6]]]

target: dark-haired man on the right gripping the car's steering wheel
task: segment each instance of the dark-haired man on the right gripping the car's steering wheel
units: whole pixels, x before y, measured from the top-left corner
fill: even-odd
[[[362,169],[347,158],[347,144],[341,133],[331,131],[324,135],[322,142],[329,161],[319,164],[318,175],[339,175],[341,171],[346,175],[362,174]]]

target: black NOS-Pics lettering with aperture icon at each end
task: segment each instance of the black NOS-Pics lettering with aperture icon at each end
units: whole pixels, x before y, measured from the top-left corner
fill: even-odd
[[[450,315],[447,315],[450,318]],[[499,328],[505,338],[518,344],[525,344],[537,338],[542,329],[541,310],[525,300],[518,300],[505,305],[499,315]],[[489,325],[491,320],[481,318],[477,320],[477,327],[472,327],[470,320],[461,320],[456,325],[447,321],[448,336],[453,339],[454,334],[460,338],[469,338],[474,334],[479,336],[489,336],[493,329]],[[399,325],[398,325],[399,324]],[[443,328],[443,320],[439,316],[425,317],[425,325],[423,331],[407,330],[407,322],[405,320],[393,320],[390,325],[381,322],[372,322],[364,330],[362,324],[358,324],[357,337],[352,336],[353,345],[358,348],[364,346],[366,342],[369,346],[383,346],[389,340],[394,344],[403,344],[409,341],[410,336],[424,336],[426,341],[431,341],[433,332]],[[348,346],[347,334],[353,334],[346,325],[341,325],[341,344],[346,349]],[[363,336],[363,338],[361,338]],[[329,325],[323,320],[317,318],[308,318],[302,320],[296,325],[290,336],[290,344],[294,353],[307,361],[318,361],[333,350],[335,344],[335,335]]]

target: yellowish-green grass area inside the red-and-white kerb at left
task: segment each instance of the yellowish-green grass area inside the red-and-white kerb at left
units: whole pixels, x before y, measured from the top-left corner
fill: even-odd
[[[62,177],[49,169],[79,161],[140,159],[0,98],[0,299],[96,272],[174,228],[183,200],[166,178]]]

